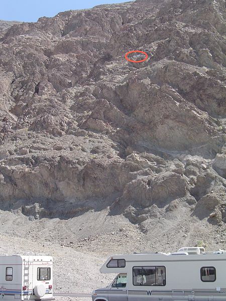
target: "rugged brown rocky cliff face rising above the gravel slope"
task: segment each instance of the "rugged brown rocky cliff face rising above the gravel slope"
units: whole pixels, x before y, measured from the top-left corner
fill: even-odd
[[[224,19],[223,0],[137,0],[12,26],[0,43],[1,209],[107,208],[144,231],[182,212],[226,222]],[[148,60],[128,62],[132,50]]]

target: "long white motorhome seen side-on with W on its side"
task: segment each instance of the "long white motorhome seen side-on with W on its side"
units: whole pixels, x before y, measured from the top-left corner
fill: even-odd
[[[114,255],[101,273],[118,273],[92,301],[226,300],[226,252],[181,248],[175,253]]]

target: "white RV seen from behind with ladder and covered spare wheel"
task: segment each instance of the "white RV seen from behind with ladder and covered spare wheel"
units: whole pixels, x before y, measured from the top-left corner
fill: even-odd
[[[53,258],[25,253],[0,256],[0,298],[54,300]]]

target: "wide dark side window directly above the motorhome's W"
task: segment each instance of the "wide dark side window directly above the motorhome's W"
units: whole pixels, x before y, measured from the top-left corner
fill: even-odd
[[[134,285],[166,285],[165,266],[134,266],[133,267]]]

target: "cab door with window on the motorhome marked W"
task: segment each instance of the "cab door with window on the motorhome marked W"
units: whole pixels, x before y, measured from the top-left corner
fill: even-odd
[[[127,274],[119,274],[108,289],[109,301],[128,301]]]

